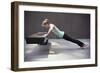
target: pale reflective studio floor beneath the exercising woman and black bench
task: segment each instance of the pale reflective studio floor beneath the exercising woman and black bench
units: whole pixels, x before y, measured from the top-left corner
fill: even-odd
[[[78,39],[85,44],[90,44],[90,39]],[[74,43],[63,39],[49,39],[48,45],[26,44],[24,45],[24,61],[58,61],[90,58],[90,46],[80,48]],[[49,51],[55,51],[50,54]]]

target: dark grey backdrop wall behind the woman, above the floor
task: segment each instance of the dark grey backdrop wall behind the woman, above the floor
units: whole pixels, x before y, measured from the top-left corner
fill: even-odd
[[[34,11],[24,12],[25,37],[36,32],[47,31],[41,27],[45,18],[73,38],[90,38],[90,14]],[[56,36],[51,33],[49,38],[56,38]]]

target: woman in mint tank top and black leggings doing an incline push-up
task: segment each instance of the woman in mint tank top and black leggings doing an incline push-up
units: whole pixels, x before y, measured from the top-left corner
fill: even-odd
[[[44,37],[47,37],[51,32],[53,32],[56,36],[59,38],[63,38],[65,40],[68,40],[70,42],[73,42],[80,46],[81,48],[86,48],[87,45],[85,45],[83,42],[73,39],[70,36],[68,36],[64,31],[61,31],[59,28],[57,28],[54,24],[51,24],[48,19],[44,19],[42,22],[42,27],[49,29],[46,34],[44,34]]]

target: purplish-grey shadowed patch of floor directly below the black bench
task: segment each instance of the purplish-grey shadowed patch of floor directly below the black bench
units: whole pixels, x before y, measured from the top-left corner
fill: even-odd
[[[48,45],[27,45],[24,50],[24,61],[34,61],[38,58],[47,58],[49,54],[49,48],[51,44]]]

